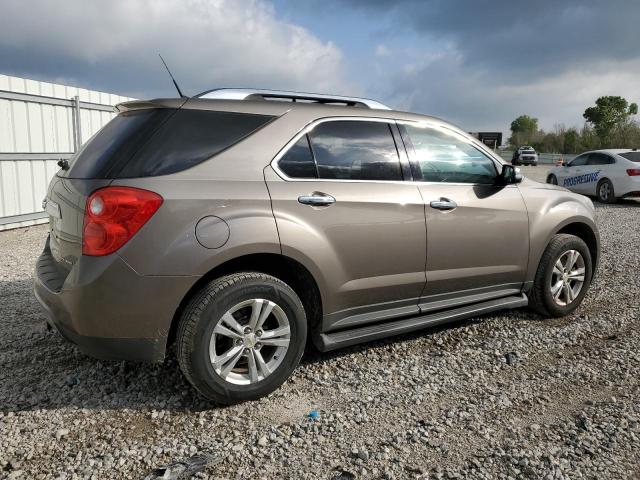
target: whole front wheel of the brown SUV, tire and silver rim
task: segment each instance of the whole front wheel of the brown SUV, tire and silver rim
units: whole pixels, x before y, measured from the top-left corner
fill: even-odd
[[[554,235],[540,259],[529,305],[544,316],[568,315],[582,303],[592,274],[587,244],[575,235]]]

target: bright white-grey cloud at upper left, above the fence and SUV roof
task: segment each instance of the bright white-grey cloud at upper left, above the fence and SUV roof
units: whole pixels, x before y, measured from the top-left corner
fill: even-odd
[[[342,54],[262,0],[3,0],[0,73],[134,97],[220,86],[340,90]]]

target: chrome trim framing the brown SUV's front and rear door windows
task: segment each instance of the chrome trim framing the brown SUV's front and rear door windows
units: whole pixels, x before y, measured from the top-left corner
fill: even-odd
[[[286,175],[282,170],[280,170],[280,167],[278,166],[278,161],[284,156],[286,155],[286,153],[289,151],[289,149],[291,147],[293,147],[293,145],[295,145],[297,143],[298,140],[300,140],[300,137],[302,137],[303,135],[306,135],[307,133],[309,133],[311,130],[313,130],[317,125],[321,124],[321,123],[326,123],[326,122],[337,122],[337,121],[343,121],[343,120],[348,120],[348,121],[355,121],[355,122],[381,122],[381,123],[387,123],[387,124],[409,124],[409,125],[424,125],[425,127],[428,128],[433,128],[433,127],[437,127],[439,129],[445,129],[447,130],[447,134],[453,134],[454,136],[456,136],[457,138],[460,138],[462,141],[464,141],[465,143],[468,143],[470,145],[472,145],[475,148],[478,148],[478,146],[480,146],[481,144],[479,144],[479,142],[474,141],[474,139],[470,139],[468,137],[466,137],[465,135],[455,131],[454,129],[447,127],[446,125],[443,125],[441,123],[435,122],[435,121],[430,121],[430,120],[398,120],[395,118],[384,118],[384,117],[356,117],[356,116],[338,116],[338,117],[322,117],[322,118],[317,118],[316,120],[313,120],[311,122],[309,122],[307,125],[305,125],[302,129],[300,129],[298,131],[298,133],[296,133],[293,138],[291,140],[289,140],[284,147],[282,147],[280,149],[280,151],[276,154],[275,157],[273,157],[273,160],[271,160],[271,162],[269,163],[269,165],[271,166],[271,168],[273,168],[273,170],[276,172],[276,174],[285,182],[346,182],[346,183],[388,183],[388,184],[402,184],[402,185],[407,185],[407,184],[411,184],[411,185],[468,185],[468,186],[487,186],[490,185],[488,183],[464,183],[464,182],[425,182],[425,181],[420,181],[420,180],[351,180],[351,179],[344,179],[344,178],[293,178],[293,177],[289,177],[288,175]],[[396,146],[396,148],[399,148],[398,146]],[[403,146],[403,148],[405,148]],[[406,150],[406,149],[405,149]],[[484,149],[480,149],[481,153],[486,155],[486,147]],[[400,155],[400,152],[398,152],[398,155]],[[408,153],[407,153],[408,155]],[[495,164],[496,167],[496,171],[498,172],[498,175],[500,174],[500,167],[503,165],[503,163],[501,161],[498,161],[496,159],[496,157],[494,156],[493,152],[491,152],[491,155],[487,155],[487,157],[492,160]],[[400,163],[402,163],[401,158],[398,158],[398,160],[400,161]],[[516,185],[507,185],[507,186],[513,186],[516,187]],[[504,186],[502,187],[504,188]]]

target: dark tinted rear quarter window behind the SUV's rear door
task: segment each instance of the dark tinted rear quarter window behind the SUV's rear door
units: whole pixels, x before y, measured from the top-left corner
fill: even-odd
[[[239,142],[273,117],[210,110],[178,110],[129,160],[118,177],[185,170]]]

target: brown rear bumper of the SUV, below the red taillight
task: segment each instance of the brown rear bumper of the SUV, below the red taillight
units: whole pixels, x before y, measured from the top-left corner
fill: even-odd
[[[64,338],[104,360],[164,359],[174,313],[197,277],[142,276],[109,255],[83,256],[66,278],[56,279],[51,278],[52,262],[47,242],[36,266],[34,292]]]

